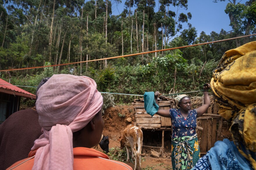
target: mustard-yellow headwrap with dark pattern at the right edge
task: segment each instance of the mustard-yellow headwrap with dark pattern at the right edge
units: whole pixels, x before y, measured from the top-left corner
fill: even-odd
[[[239,152],[256,162],[256,41],[228,50],[213,72],[211,89],[219,114],[232,119],[232,138]],[[243,149],[243,150],[242,150]]]

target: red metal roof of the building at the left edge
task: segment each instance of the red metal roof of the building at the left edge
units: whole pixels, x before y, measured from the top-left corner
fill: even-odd
[[[27,97],[27,98],[32,98],[32,99],[36,98],[36,96],[33,95],[32,93],[29,93],[17,86],[14,86],[13,84],[10,84],[10,83],[4,81],[3,79],[0,79],[0,92],[17,95],[17,96],[22,96],[22,97]]]

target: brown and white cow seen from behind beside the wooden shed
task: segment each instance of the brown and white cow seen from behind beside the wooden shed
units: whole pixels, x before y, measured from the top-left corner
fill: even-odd
[[[128,162],[130,160],[129,158],[129,150],[128,146],[131,147],[131,158],[135,156],[135,167],[134,170],[141,169],[141,150],[142,150],[142,141],[143,141],[143,134],[141,128],[133,125],[126,126],[125,130],[123,131],[123,134],[119,136],[118,141],[120,141],[121,148],[124,148],[126,145],[126,151],[127,151],[127,160]],[[137,149],[136,149],[137,147]]]

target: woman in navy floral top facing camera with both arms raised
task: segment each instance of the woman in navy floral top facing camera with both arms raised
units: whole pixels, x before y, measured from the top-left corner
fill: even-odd
[[[172,165],[173,169],[191,169],[200,158],[200,148],[195,132],[196,118],[202,116],[209,108],[211,102],[208,95],[210,85],[204,86],[204,104],[191,110],[191,100],[187,95],[179,95],[174,98],[179,109],[159,109],[157,114],[170,117],[172,120]],[[155,92],[155,101],[161,95]]]

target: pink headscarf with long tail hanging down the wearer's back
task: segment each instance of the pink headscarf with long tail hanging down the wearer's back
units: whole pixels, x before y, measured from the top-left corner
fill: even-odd
[[[37,92],[36,110],[43,134],[31,150],[33,169],[73,169],[73,134],[101,110],[103,98],[86,76],[53,75]]]

